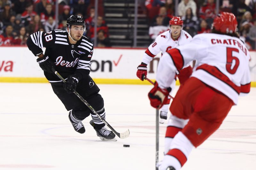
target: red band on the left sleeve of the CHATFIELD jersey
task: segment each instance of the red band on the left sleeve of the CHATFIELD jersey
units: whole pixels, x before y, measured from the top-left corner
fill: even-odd
[[[183,56],[180,53],[180,50],[178,50],[177,48],[173,48],[169,51],[167,51],[167,53],[171,56],[172,61],[175,65],[175,67],[177,68],[177,70],[181,70],[184,66],[184,60],[183,60]]]

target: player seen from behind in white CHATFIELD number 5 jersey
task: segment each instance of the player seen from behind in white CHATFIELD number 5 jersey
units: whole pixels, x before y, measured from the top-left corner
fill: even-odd
[[[159,170],[181,169],[192,148],[220,127],[238,96],[250,92],[250,54],[236,29],[234,14],[223,12],[214,18],[212,33],[198,34],[160,59],[155,87],[148,93],[154,108],[161,108],[167,100],[176,70],[192,60],[196,66],[172,101]]]

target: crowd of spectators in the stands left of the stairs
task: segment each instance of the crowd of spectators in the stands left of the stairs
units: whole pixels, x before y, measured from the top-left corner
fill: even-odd
[[[0,46],[26,45],[28,36],[37,31],[66,30],[72,14],[81,15],[86,21],[86,37],[94,41],[94,24],[97,24],[97,46],[110,46],[103,16],[94,22],[94,11],[90,0],[60,0],[57,23],[52,0],[0,0]]]

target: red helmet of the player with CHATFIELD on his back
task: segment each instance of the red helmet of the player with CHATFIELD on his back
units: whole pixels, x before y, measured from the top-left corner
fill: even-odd
[[[233,13],[222,12],[214,18],[212,26],[216,31],[221,33],[234,33],[236,32],[237,21]]]

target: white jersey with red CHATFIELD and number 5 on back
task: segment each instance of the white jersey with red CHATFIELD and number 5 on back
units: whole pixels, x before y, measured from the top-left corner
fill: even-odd
[[[156,81],[168,88],[175,71],[196,60],[191,77],[219,90],[235,104],[238,96],[250,92],[250,54],[243,42],[220,34],[198,34],[192,41],[165,53],[158,64]]]

